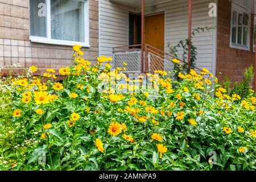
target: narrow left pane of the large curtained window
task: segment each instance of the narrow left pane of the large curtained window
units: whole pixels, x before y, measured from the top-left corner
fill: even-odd
[[[44,0],[30,0],[30,35],[46,37],[46,4]]]

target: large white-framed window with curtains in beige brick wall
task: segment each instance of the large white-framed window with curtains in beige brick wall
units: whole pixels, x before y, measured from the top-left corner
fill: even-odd
[[[30,0],[30,40],[89,47],[88,0]]]

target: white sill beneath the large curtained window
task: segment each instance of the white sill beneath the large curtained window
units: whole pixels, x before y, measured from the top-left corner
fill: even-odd
[[[84,42],[75,42],[69,40],[56,40],[56,39],[48,39],[42,38],[38,36],[30,36],[30,41],[35,43],[42,43],[42,44],[53,44],[53,45],[60,45],[60,46],[74,46],[75,44],[82,46],[82,47],[90,47],[89,44]]]

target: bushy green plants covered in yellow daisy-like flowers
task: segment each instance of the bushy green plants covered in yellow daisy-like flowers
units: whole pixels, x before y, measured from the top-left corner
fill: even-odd
[[[212,83],[207,69],[179,73],[179,82],[164,71],[128,78],[119,72],[123,68],[110,71],[108,63],[99,69],[112,59],[97,57],[98,64],[91,65],[80,57],[79,46],[73,49],[75,65],[59,69],[67,76],[63,84],[53,69],[40,78],[25,75],[5,82],[11,93],[2,92],[1,100],[11,108],[0,118],[0,169],[256,168],[252,92],[242,101],[229,97],[217,78]],[[139,84],[146,77],[159,85],[145,90]],[[121,84],[124,80],[129,84]],[[120,92],[102,90],[109,82]],[[138,92],[131,93],[134,88]]]

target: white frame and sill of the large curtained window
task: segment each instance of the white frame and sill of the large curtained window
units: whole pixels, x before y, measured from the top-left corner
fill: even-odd
[[[46,0],[46,38],[30,35],[30,41],[43,44],[55,44],[61,46],[73,46],[79,44],[82,47],[90,47],[89,44],[89,0],[76,0],[84,2],[84,42],[70,40],[51,39],[51,0]]]

